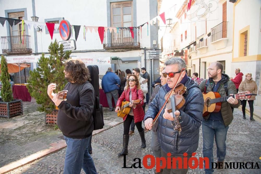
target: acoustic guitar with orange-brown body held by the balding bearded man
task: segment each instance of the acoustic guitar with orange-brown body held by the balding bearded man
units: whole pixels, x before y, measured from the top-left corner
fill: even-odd
[[[251,94],[249,91],[246,91],[231,96],[235,99],[247,100],[248,98],[251,97],[251,95],[253,94]],[[203,98],[204,98],[203,117],[209,115],[210,112],[219,112],[221,109],[221,102],[227,101],[227,99],[231,96],[220,97],[220,94],[218,92],[212,92],[212,91],[208,93],[203,93]]]

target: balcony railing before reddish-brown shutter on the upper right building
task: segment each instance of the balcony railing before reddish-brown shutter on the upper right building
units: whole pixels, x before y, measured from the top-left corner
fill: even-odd
[[[211,28],[211,42],[218,39],[227,38],[228,22],[221,22],[217,26]]]

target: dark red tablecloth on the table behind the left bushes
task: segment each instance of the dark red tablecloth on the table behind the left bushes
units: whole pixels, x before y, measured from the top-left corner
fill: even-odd
[[[13,85],[12,91],[14,99],[22,101],[31,101],[32,99],[25,85]]]

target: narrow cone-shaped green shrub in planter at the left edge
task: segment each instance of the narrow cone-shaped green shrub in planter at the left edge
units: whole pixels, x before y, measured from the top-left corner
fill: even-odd
[[[1,56],[1,82],[2,82],[2,89],[1,89],[1,97],[4,102],[13,101],[13,92],[11,89],[11,84],[9,83],[9,73],[7,67],[7,61],[4,56]]]

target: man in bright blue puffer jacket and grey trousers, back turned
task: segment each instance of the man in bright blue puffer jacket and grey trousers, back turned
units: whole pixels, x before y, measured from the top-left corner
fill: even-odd
[[[114,111],[114,108],[112,107],[111,98],[113,97],[115,105],[118,101],[119,98],[118,90],[120,84],[121,84],[120,77],[117,76],[115,73],[113,73],[112,68],[108,68],[106,74],[102,78],[102,89],[106,94],[110,111]]]

